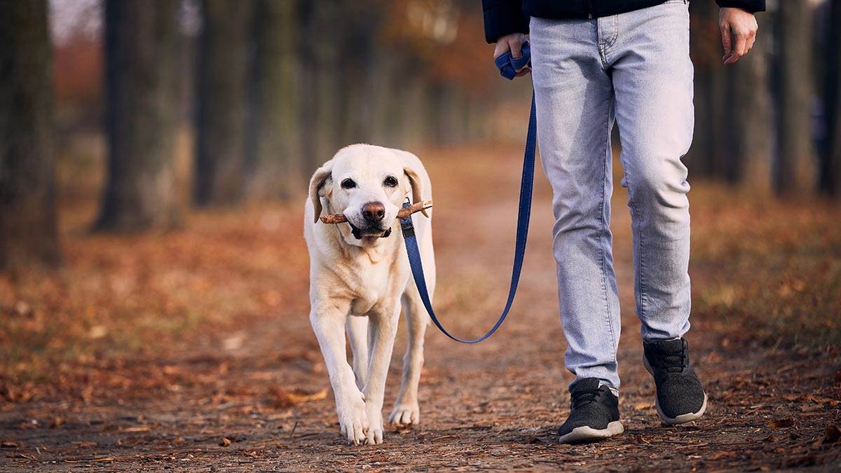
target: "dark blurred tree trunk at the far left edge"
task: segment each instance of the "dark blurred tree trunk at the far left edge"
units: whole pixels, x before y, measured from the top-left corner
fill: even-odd
[[[0,269],[60,262],[46,0],[0,0]]]

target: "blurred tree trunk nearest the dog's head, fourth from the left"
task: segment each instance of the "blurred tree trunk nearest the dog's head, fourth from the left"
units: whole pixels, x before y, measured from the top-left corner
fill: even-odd
[[[246,193],[288,199],[304,189],[299,130],[297,0],[257,0],[254,11]]]

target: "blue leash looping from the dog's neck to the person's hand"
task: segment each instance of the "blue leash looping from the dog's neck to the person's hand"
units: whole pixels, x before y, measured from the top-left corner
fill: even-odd
[[[496,67],[500,70],[500,75],[506,79],[512,80],[516,75],[516,69],[527,66],[531,61],[531,50],[528,43],[522,46],[521,59],[514,59],[510,52],[496,58]],[[505,317],[508,316],[508,311],[514,303],[514,296],[517,293],[517,284],[520,282],[520,273],[523,267],[523,258],[526,256],[526,239],[528,238],[528,222],[532,214],[532,189],[534,184],[534,156],[537,148],[537,113],[534,104],[534,94],[532,93],[532,114],[528,120],[528,134],[526,135],[526,152],[523,157],[523,173],[520,184],[520,207],[517,211],[517,233],[516,245],[514,247],[514,267],[511,268],[511,285],[508,290],[508,301],[505,302],[505,309],[502,311],[499,320],[496,321],[487,333],[479,338],[473,340],[463,340],[452,336],[447,329],[444,328],[441,321],[432,310],[432,302],[429,299],[429,292],[426,290],[426,278],[423,274],[423,264],[421,263],[421,252],[418,249],[417,237],[415,236],[415,226],[412,225],[412,216],[409,215],[405,219],[400,220],[400,229],[403,231],[403,238],[406,243],[406,252],[409,254],[409,264],[412,268],[412,276],[415,278],[415,285],[418,292],[421,294],[421,301],[423,302],[426,311],[432,318],[432,322],[441,330],[444,335],[450,337],[459,343],[479,343],[487,337],[496,332],[500,328],[502,322],[505,322]],[[408,207],[409,202],[403,204]]]

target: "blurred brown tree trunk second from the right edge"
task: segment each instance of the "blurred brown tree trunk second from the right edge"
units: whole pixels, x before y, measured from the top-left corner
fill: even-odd
[[[773,182],[778,195],[811,194],[815,184],[809,106],[812,98],[809,8],[807,2],[780,2],[776,19],[780,55],[775,72],[778,146]]]

